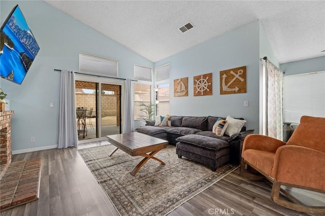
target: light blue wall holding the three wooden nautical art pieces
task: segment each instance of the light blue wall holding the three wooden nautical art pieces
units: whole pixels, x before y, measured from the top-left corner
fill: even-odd
[[[203,44],[155,62],[170,63],[170,114],[242,117],[258,133],[259,22],[225,33]],[[220,95],[220,70],[245,66],[247,93]],[[193,96],[193,76],[212,73],[213,95]],[[188,97],[174,97],[174,79],[188,77]],[[244,107],[244,101],[248,107]]]

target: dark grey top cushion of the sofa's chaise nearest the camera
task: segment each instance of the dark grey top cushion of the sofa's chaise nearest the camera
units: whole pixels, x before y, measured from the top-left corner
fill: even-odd
[[[197,134],[181,136],[178,137],[176,140],[179,142],[188,143],[190,145],[202,147],[205,149],[211,149],[215,151],[229,147],[229,143],[222,139],[216,139],[216,138],[197,135]]]

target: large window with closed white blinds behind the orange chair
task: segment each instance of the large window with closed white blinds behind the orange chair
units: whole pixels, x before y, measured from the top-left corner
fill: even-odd
[[[283,78],[284,122],[301,116],[325,117],[325,71]]]

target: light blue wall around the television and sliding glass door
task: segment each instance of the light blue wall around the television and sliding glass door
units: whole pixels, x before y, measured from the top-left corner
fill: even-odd
[[[105,37],[42,1],[1,1],[1,24],[18,4],[39,46],[34,63],[21,85],[0,79],[8,94],[12,117],[12,150],[56,146],[60,73],[78,71],[79,52],[118,60],[120,78],[133,78],[133,65],[153,62]],[[54,107],[49,106],[54,102]],[[35,136],[36,141],[30,142]]]

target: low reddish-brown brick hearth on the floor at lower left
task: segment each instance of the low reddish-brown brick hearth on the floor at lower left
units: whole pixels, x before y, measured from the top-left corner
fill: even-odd
[[[12,162],[0,181],[1,210],[38,199],[41,158]]]

